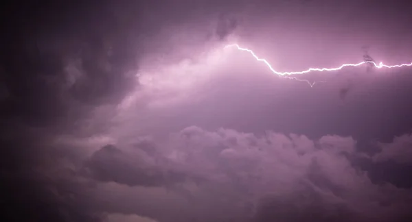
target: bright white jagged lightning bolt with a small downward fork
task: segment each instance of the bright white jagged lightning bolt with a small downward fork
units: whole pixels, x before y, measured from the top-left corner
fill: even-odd
[[[265,59],[263,59],[263,58],[259,58],[258,56],[256,56],[256,54],[255,54],[251,49],[242,48],[242,47],[240,47],[238,44],[227,45],[227,46],[225,46],[225,49],[226,49],[226,48],[229,48],[229,47],[236,47],[236,49],[238,49],[238,50],[240,50],[240,51],[247,51],[247,52],[250,53],[256,60],[258,60],[258,61],[260,61],[260,62],[264,62],[264,63],[266,64],[266,66],[268,66],[268,68],[272,71],[272,73],[275,73],[276,75],[282,75],[282,76],[285,76],[285,75],[299,75],[299,74],[309,73],[309,72],[312,72],[312,71],[319,71],[319,72],[323,72],[323,71],[338,71],[338,70],[343,69],[343,68],[346,67],[346,66],[361,66],[361,65],[366,64],[366,63],[371,63],[371,64],[373,64],[373,65],[374,65],[376,68],[378,68],[378,69],[381,69],[381,68],[391,69],[391,68],[400,68],[400,67],[402,67],[402,66],[412,66],[412,62],[409,63],[409,64],[396,64],[396,65],[388,66],[388,65],[386,65],[386,64],[383,64],[382,62],[380,62],[379,64],[376,64],[376,62],[373,62],[373,61],[364,61],[364,62],[359,62],[359,63],[356,63],[356,64],[343,64],[343,65],[341,65],[341,66],[339,66],[339,67],[336,67],[336,68],[309,68],[309,69],[306,69],[306,70],[304,70],[304,71],[279,72],[279,71],[275,71],[275,69],[273,69],[273,67],[271,66],[271,64],[270,64],[267,60],[265,60]],[[302,81],[302,82],[307,82],[307,83],[310,85],[310,87],[312,87],[312,86],[316,83],[316,82],[314,82],[314,83],[311,84],[308,80],[305,80],[305,79],[297,79],[296,77],[287,76],[287,78],[289,78],[289,79],[296,79],[296,80]]]

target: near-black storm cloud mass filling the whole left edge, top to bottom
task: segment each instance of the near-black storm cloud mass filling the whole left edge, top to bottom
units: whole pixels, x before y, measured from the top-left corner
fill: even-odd
[[[130,36],[130,27],[114,24],[117,18],[104,15],[98,5],[85,8],[30,3],[10,5],[2,13],[11,14],[1,19],[1,80],[7,88],[7,97],[1,98],[4,220],[100,221],[82,203],[69,200],[77,186],[56,184],[56,177],[45,177],[43,170],[60,161],[49,149],[58,132],[73,130],[93,106],[113,103],[135,87],[126,75],[137,68],[134,47],[124,37]]]

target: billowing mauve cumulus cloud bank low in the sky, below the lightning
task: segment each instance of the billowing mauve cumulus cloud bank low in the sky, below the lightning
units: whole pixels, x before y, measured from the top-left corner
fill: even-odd
[[[379,221],[404,212],[411,195],[373,184],[351,161],[355,146],[350,137],[193,126],[102,146],[78,168],[95,184],[80,190],[92,197],[90,213],[157,221]]]

